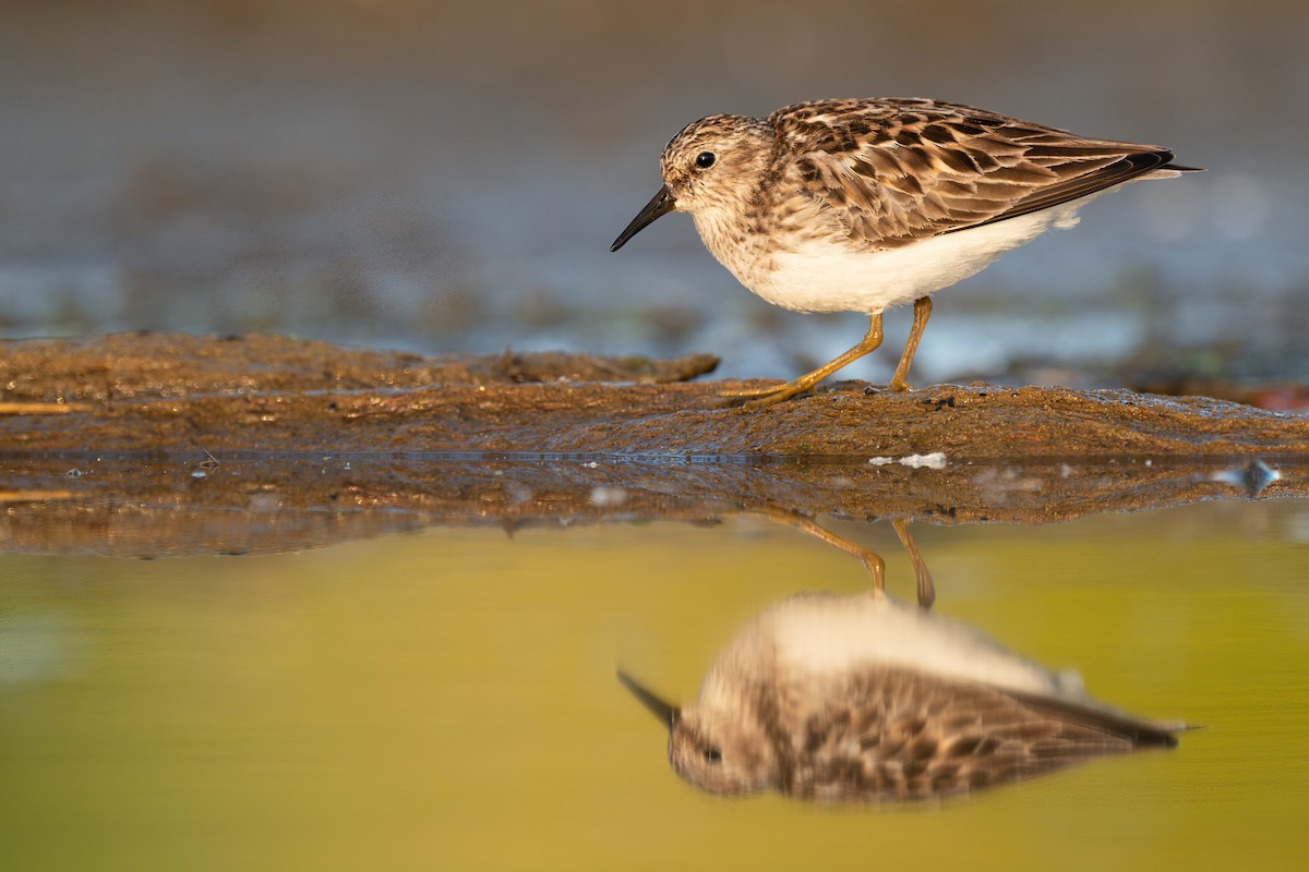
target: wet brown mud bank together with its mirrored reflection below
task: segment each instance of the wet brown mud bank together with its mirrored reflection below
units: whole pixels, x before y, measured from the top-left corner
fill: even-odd
[[[263,553],[431,524],[1045,523],[1309,494],[1309,418],[863,383],[763,411],[712,357],[421,358],[283,337],[0,344],[0,549]]]

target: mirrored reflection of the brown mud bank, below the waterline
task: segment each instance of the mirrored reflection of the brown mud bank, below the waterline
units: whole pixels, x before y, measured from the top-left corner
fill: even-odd
[[[1309,495],[1309,464],[657,461],[432,455],[0,458],[0,550],[300,550],[429,526],[567,528],[733,516],[1050,523],[1194,499]]]

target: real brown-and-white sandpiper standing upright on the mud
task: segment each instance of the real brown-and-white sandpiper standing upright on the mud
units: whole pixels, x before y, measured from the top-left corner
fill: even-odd
[[[730,396],[767,405],[806,391],[882,341],[882,311],[914,303],[891,390],[932,312],[931,294],[1136,179],[1170,178],[1157,145],[1086,139],[931,99],[825,99],[766,119],[709,115],[664,149],[664,187],[617,251],[672,210],[690,212],[709,252],[770,303],[872,316],[844,354],[793,382]]]

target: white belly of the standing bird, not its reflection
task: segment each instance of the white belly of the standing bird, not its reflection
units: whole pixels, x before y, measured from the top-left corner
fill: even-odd
[[[877,314],[979,272],[1052,224],[1071,226],[1080,203],[946,233],[902,248],[810,241],[761,259],[741,282],[770,303],[802,312]],[[736,271],[733,271],[736,272]]]

